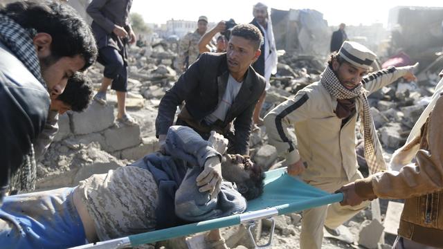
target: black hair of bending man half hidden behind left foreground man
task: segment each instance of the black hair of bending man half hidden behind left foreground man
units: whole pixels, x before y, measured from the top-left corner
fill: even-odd
[[[57,97],[71,107],[72,111],[84,111],[92,99],[92,82],[84,73],[74,73],[69,78],[63,93]]]

